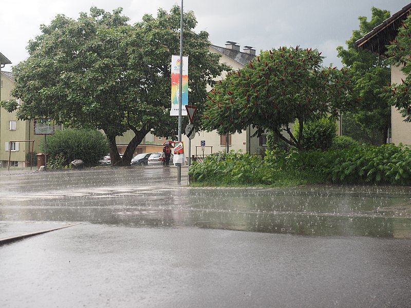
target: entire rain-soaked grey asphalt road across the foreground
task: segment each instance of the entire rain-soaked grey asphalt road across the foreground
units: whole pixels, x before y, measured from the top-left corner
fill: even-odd
[[[0,239],[72,225],[0,246],[0,307],[411,306],[409,187],[100,168],[3,174],[0,200]]]

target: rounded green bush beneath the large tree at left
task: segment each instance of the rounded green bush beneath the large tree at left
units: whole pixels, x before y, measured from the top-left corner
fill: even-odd
[[[41,144],[44,151],[44,142]],[[47,137],[49,161],[57,167],[81,159],[86,167],[96,166],[109,151],[106,137],[94,129],[65,129]]]

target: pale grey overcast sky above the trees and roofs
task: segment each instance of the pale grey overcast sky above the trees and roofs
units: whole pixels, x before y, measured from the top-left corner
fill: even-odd
[[[260,50],[300,45],[318,48],[326,56],[324,65],[341,66],[337,46],[346,46],[352,30],[359,27],[359,16],[371,17],[371,7],[386,9],[391,15],[411,0],[184,0],[184,11],[197,17],[196,31],[210,34],[213,45],[226,41]],[[96,6],[106,11],[122,7],[134,24],[157,9],[170,10],[181,0],[7,0],[0,5],[2,52],[16,65],[27,59],[29,40],[40,34],[57,14],[77,19],[80,12]],[[6,65],[3,70],[11,70]]]

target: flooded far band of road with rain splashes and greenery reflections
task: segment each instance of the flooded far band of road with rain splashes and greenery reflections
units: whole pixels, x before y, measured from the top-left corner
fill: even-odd
[[[411,238],[409,187],[189,188],[173,167],[33,172],[0,184],[0,221]]]

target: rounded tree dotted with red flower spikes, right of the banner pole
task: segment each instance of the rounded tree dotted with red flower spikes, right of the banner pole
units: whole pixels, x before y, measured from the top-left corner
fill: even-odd
[[[318,50],[298,46],[261,52],[244,69],[216,84],[208,96],[204,127],[226,134],[252,125],[257,135],[271,131],[303,149],[307,121],[337,117],[353,103],[349,71],[324,68],[322,61]],[[296,132],[290,126],[294,121]]]

